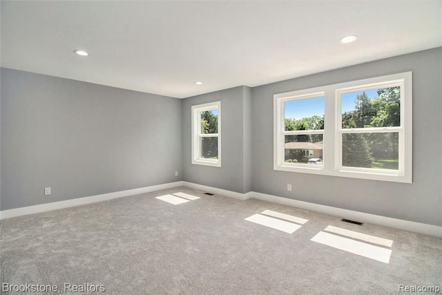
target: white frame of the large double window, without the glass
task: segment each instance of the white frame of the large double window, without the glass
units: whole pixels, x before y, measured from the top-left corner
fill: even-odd
[[[401,86],[401,126],[366,129],[343,129],[340,94],[374,88]],[[285,109],[284,103],[292,99],[325,97],[323,131],[296,131],[302,134],[323,133],[323,164],[307,165],[284,162]],[[293,131],[291,131],[293,132]],[[398,170],[342,166],[342,135],[344,133],[398,132]],[[273,95],[273,169],[298,173],[412,182],[412,72],[362,79],[316,88]]]

